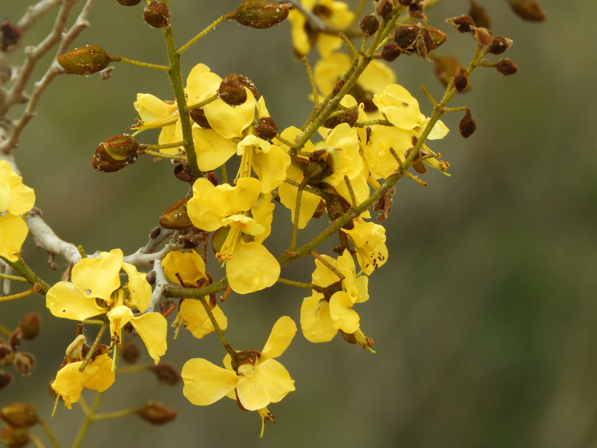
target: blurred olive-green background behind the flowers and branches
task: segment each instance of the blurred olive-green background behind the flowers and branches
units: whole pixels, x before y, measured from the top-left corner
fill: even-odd
[[[356,309],[377,354],[339,336],[312,344],[297,333],[281,358],[297,390],[269,407],[277,422],[267,426],[263,440],[257,438],[257,413],[239,411],[232,400],[195,407],[181,385],[158,385],[146,372],[122,374],[106,392],[101,412],[159,400],[176,409],[178,418],[162,427],[135,416],[97,422],[85,447],[597,446],[597,4],[541,0],[549,20],[532,24],[503,1],[480,2],[490,11],[494,33],[515,42],[506,56],[520,70],[505,78],[479,69],[472,91],[454,100],[470,106],[478,131],[463,140],[460,113],[445,117],[453,131],[432,148],[450,162],[452,177],[428,171],[427,188],[399,182],[394,210],[384,222],[389,260],[371,275],[371,300]],[[0,16],[16,21],[31,3],[2,0]],[[172,0],[177,44],[237,4]],[[463,61],[472,56],[470,36],[444,23],[467,10],[466,0],[445,0],[429,11],[429,23],[448,33],[438,54]],[[166,63],[162,33],[143,23],[141,11],[141,5],[98,1],[91,28],[75,46],[99,44],[112,54]],[[52,20],[46,17],[24,44],[38,42]],[[266,31],[224,23],[184,54],[184,72],[198,62],[221,76],[253,79],[281,128],[300,126],[310,111],[309,84],[294,59],[288,23]],[[441,96],[432,65],[402,56],[392,67],[430,115],[418,87]],[[47,222],[88,252],[121,247],[131,253],[143,246],[159,214],[186,192],[168,161],[141,158],[117,174],[90,166],[101,140],[133,124],[137,92],[173,96],[164,73],[122,64],[107,81],[60,76],[17,150],[24,182],[35,188]],[[141,137],[153,142],[156,134]],[[276,208],[276,223],[266,241],[273,254],[290,240],[288,210]],[[299,243],[324,226],[324,220],[313,220]],[[23,256],[49,282],[59,280],[65,267],[60,259],[59,272],[50,271],[46,255],[31,242]],[[219,278],[219,268],[210,265]],[[313,260],[305,259],[282,275],[309,281],[312,269]],[[227,337],[237,349],[260,349],[279,316],[298,323],[303,296],[279,285],[231,294],[222,306]],[[49,418],[48,381],[75,336],[75,323],[51,317],[40,296],[3,303],[0,323],[12,329],[34,310],[44,318],[42,337],[22,349],[36,355],[38,367],[30,378],[17,374],[0,392],[0,403],[30,401]],[[88,335],[96,331],[92,327]],[[181,330],[176,341],[169,337],[162,360],[178,369],[192,357],[220,364],[224,355],[214,334],[198,340]],[[148,361],[144,355],[141,362]],[[81,421],[78,406],[59,407],[52,425],[67,444]]]

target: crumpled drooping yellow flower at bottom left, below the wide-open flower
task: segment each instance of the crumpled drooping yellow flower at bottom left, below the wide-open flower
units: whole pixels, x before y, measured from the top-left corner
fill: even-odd
[[[96,356],[89,361],[83,372],[79,367],[85,358],[82,348],[85,336],[79,335],[66,349],[66,365],[56,374],[52,383],[54,391],[61,395],[64,406],[71,409],[71,404],[79,401],[79,396],[84,387],[93,391],[103,392],[114,382],[114,373],[111,372],[112,360],[107,354],[107,347],[99,345]],[[98,354],[99,353],[99,354]]]

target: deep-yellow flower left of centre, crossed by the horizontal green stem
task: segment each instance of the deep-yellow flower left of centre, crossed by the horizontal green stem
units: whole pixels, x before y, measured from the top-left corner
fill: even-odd
[[[201,288],[207,286],[208,278],[205,275],[205,262],[196,251],[183,252],[180,250],[172,251],[162,260],[164,273],[172,283],[179,284],[182,279],[186,287]],[[210,303],[211,312],[216,318],[216,322],[222,330],[226,330],[228,320],[223,311],[217,306],[217,302],[210,301],[210,296],[204,299]],[[201,339],[214,330],[213,324],[205,311],[205,308],[199,300],[184,299],[180,304],[179,315],[175,322],[180,323],[180,318],[184,320],[184,326],[193,336]]]

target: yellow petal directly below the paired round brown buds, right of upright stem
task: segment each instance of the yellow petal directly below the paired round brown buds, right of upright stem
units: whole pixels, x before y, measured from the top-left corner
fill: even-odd
[[[247,100],[239,106],[229,106],[221,99],[205,105],[205,118],[214,131],[226,139],[242,137],[244,131],[255,117],[256,101],[253,93],[245,87]]]

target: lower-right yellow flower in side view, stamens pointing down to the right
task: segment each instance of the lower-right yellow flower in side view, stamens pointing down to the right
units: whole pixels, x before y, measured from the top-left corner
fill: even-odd
[[[329,287],[339,283],[340,289],[331,297],[312,291],[310,297],[303,300],[300,311],[301,329],[304,337],[310,342],[328,342],[338,330],[348,334],[356,334],[359,330],[359,315],[352,309],[355,303],[369,299],[367,292],[368,278],[356,276],[355,262],[349,251],[338,256],[337,260],[327,255],[322,257],[344,276],[343,280],[319,260],[315,260],[315,271],[312,283]]]

